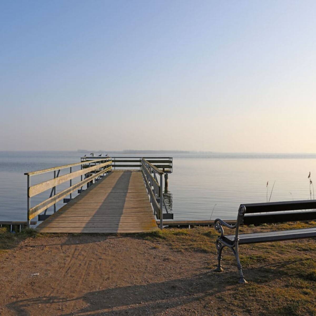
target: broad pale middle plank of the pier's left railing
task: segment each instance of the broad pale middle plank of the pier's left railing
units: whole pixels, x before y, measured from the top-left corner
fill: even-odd
[[[110,164],[112,164],[112,161],[107,161],[105,163],[101,163],[101,164],[98,164],[98,165],[95,165],[95,166],[92,166],[89,168],[85,168],[82,170],[78,170],[78,171],[75,171],[72,173],[67,173],[67,174],[64,174],[58,178],[50,179],[50,180],[41,182],[39,184],[32,185],[28,189],[28,197],[33,197],[34,195],[37,195],[41,192],[44,192],[48,189],[51,189],[52,187],[57,186],[59,184],[62,184],[70,179],[74,179],[74,178],[79,177],[85,173],[89,173],[90,171],[100,169],[100,168],[105,167],[105,166],[110,165]]]

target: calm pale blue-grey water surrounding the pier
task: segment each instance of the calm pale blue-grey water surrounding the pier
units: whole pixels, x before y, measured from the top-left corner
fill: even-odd
[[[271,202],[309,199],[308,173],[316,179],[316,154],[155,153],[153,156],[173,157],[173,173],[169,175],[165,198],[172,206],[174,220],[208,220],[213,208],[212,219],[236,218],[240,203],[266,202],[267,181],[268,199],[275,181]],[[78,162],[80,157],[77,152],[0,152],[0,220],[26,220],[24,172]],[[67,172],[69,169],[64,171]],[[32,184],[48,176],[52,174],[32,177]],[[58,191],[66,186],[60,186]],[[46,191],[32,198],[32,206],[48,196]],[[58,203],[58,207],[62,205]]]

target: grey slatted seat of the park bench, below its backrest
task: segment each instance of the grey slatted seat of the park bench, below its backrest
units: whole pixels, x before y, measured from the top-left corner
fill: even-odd
[[[300,228],[290,230],[279,230],[273,232],[239,234],[239,244],[255,244],[259,242],[291,240],[298,238],[316,237],[316,227]],[[234,244],[235,235],[227,235],[222,237],[227,242]]]

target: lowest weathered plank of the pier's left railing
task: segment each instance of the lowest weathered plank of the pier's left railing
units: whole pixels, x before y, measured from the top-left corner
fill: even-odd
[[[36,206],[32,207],[29,210],[29,219],[32,219],[35,216],[39,215],[41,212],[43,212],[44,210],[46,210],[50,206],[54,205],[55,203],[57,203],[58,201],[60,201],[61,199],[63,199],[67,195],[69,195],[70,193],[76,191],[82,185],[92,181],[94,178],[96,178],[99,175],[105,173],[106,171],[110,171],[110,170],[111,170],[111,167],[104,169],[104,170],[100,171],[99,173],[96,173],[93,176],[91,176],[87,179],[84,179],[84,180],[76,183],[75,185],[70,186],[69,188],[59,192],[58,194],[46,199],[45,201],[41,202],[40,204],[37,204]],[[106,177],[104,177],[103,179],[106,179]],[[83,193],[81,193],[81,194],[83,194]]]

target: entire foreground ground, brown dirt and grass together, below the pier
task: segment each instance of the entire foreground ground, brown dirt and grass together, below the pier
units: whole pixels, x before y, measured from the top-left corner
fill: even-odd
[[[316,222],[243,229],[298,225]],[[213,228],[27,237],[33,233],[0,234],[1,316],[316,315],[313,238],[240,247],[249,282],[240,285],[229,249],[224,272],[213,271]]]

